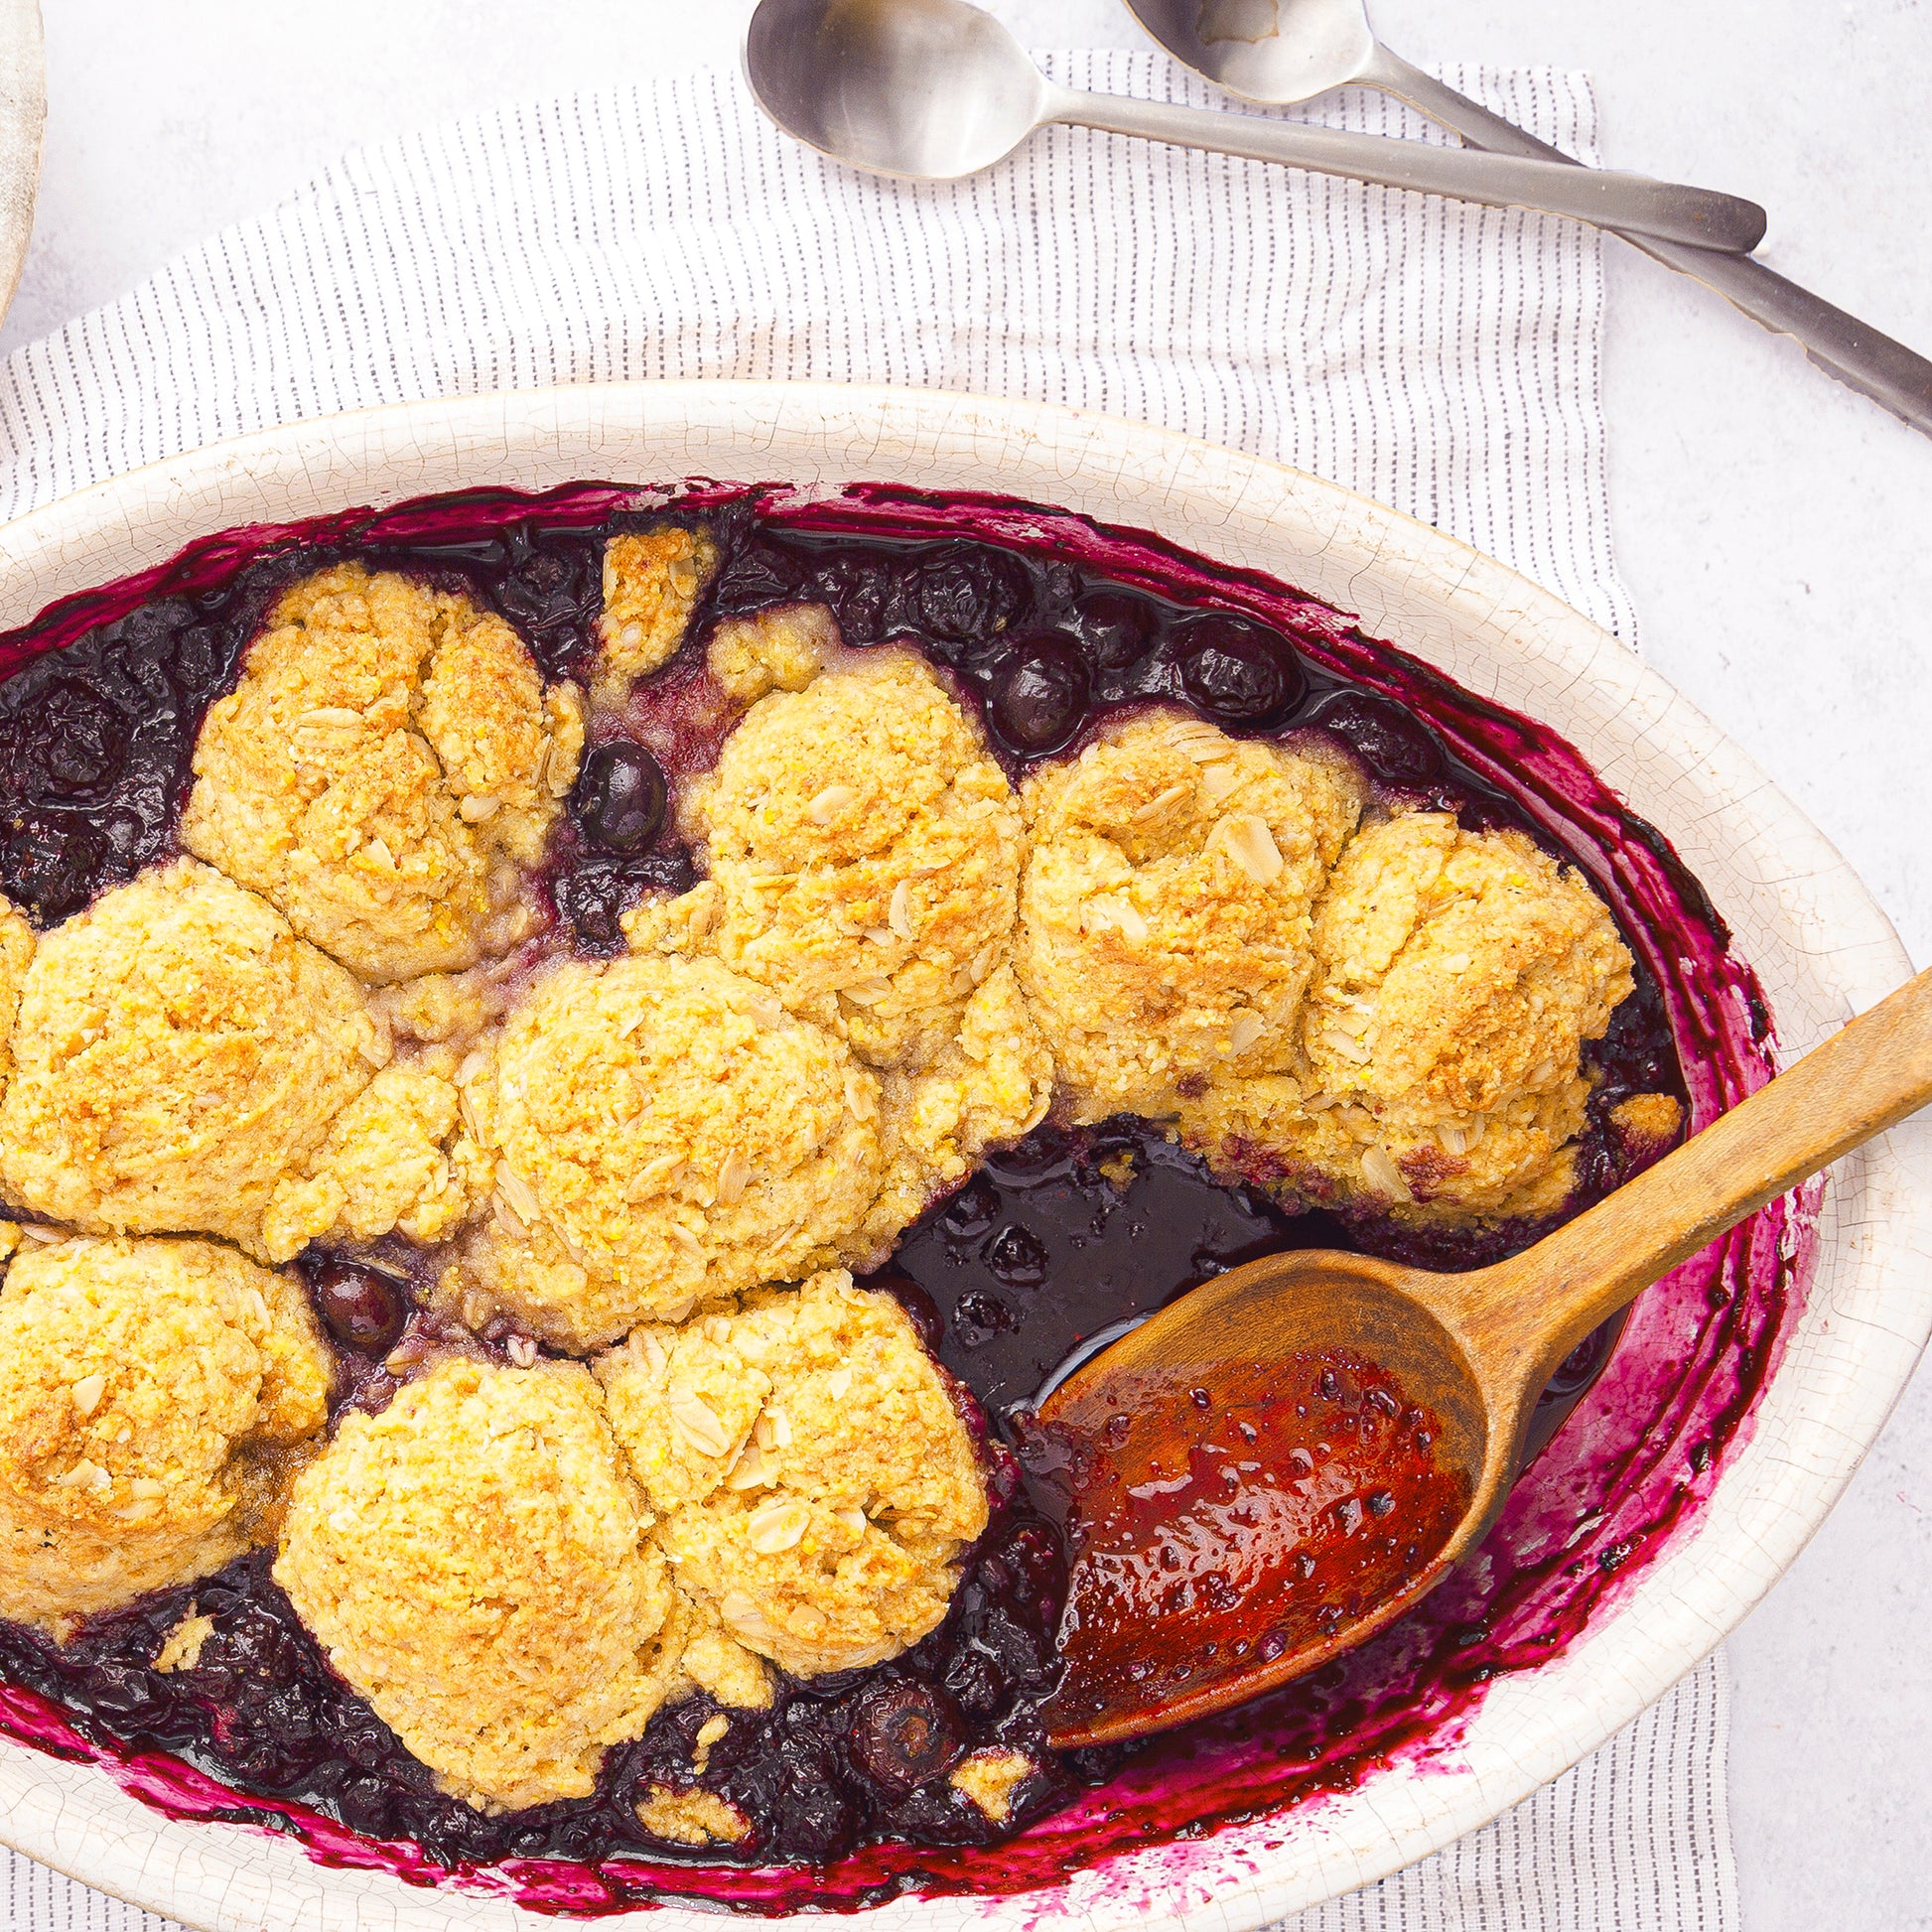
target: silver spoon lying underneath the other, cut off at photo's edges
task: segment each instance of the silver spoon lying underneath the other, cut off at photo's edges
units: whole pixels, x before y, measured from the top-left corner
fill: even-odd
[[[1331,87],[1379,87],[1497,155],[1569,160],[1513,122],[1389,52],[1362,0],[1126,0],[1177,60],[1246,100],[1289,106]],[[1578,166],[1571,162],[1571,166]],[[1654,261],[1714,288],[1772,334],[1791,336],[1826,375],[1932,435],[1932,361],[1743,253],[1712,253],[1604,222]],[[1756,243],[1752,243],[1756,245]]]

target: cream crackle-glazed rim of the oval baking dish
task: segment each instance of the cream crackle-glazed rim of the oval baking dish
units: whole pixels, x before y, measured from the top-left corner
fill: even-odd
[[[684,454],[667,458],[672,444]],[[790,454],[771,462],[779,452]],[[439,464],[485,473],[442,481]],[[1766,862],[1754,877],[1727,864],[1714,885],[1706,866],[1685,852],[1741,931],[1747,960],[1760,964],[1743,941],[1756,925],[1766,935],[1787,927],[1791,958],[1814,964],[1818,985],[1806,1005],[1779,1005],[1774,995],[1785,1051],[1810,1045],[1909,972],[1862,883],[1756,763],[1660,672],[1551,593],[1339,485],[1173,431],[1051,404],[821,383],[626,383],[309,417],[110,477],[0,529],[0,624],[160,562],[191,535],[249,522],[292,522],[450,487],[547,487],[566,477],[806,481],[811,466],[819,483],[837,473],[840,481],[925,489],[1005,487],[1101,522],[1153,527],[1215,560],[1267,568],[1341,601],[1366,634],[1412,651],[1478,696],[1520,705],[1511,692],[1524,680],[1536,686],[1577,717],[1536,715],[1578,744],[1679,850],[1696,844],[1696,804],[1704,798],[1712,821],[1727,821],[1725,842],[1737,844],[1737,856]],[[951,481],[964,473],[978,481]],[[367,481],[350,487],[350,475]],[[1298,520],[1298,539],[1321,539],[1308,568],[1339,572],[1349,597],[1337,599],[1306,572],[1256,560],[1269,541],[1289,543],[1283,520]],[[1605,746],[1623,736],[1629,746],[1604,757],[1592,736]],[[1748,916],[1741,922],[1733,912]],[[1559,1776],[1748,1613],[1876,1439],[1932,1329],[1932,1296],[1901,1279],[1911,1273],[1907,1264],[1922,1269],[1932,1256],[1928,1155],[1932,1124],[1918,1121],[1845,1163],[1820,1215],[1816,1306],[1791,1327],[1754,1410],[1750,1441],[1731,1453],[1696,1520],[1563,1658],[1492,1687],[1468,1723],[1466,1748],[1457,1752],[1463,1764],[1397,1766],[1352,1793],[1275,1820],[1122,1855],[1074,1874],[1051,1895],[908,1897],[867,1917],[895,1926],[912,1918],[927,1926],[1018,1924],[1053,1909],[1078,1911],[1099,1932],[1126,1922],[1180,1924],[1206,1907],[1229,1932],[1240,1932],[1372,1884]],[[1698,1561],[1689,1561],[1692,1553]],[[97,1766],[0,1741],[0,1839],[209,1932],[294,1926],[298,1918],[328,1932],[379,1922],[396,1932],[545,1922],[502,1897],[417,1889],[386,1872],[321,1866],[288,1839],[255,1830],[243,1837],[243,1830],[164,1818]],[[680,1932],[688,1915],[697,1932],[690,1907],[663,1911],[676,1915]]]

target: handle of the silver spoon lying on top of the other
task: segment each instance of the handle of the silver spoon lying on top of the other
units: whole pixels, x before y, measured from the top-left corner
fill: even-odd
[[[1055,87],[1041,120],[1078,122],[1177,147],[1204,147],[1250,160],[1279,160],[1312,174],[1347,174],[1383,187],[1451,195],[1493,209],[1540,209],[1598,228],[1631,230],[1704,249],[1748,251],[1764,240],[1764,209],[1714,189],[1652,182],[1609,168],[1565,168],[1546,158],[1486,155],[1428,141],[1391,141],[1339,128],[1221,114],[1126,95],[1084,95]]]

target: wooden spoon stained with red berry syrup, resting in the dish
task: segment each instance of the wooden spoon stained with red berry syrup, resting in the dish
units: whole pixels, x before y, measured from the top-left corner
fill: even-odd
[[[1490,1530],[1538,1395],[1592,1329],[1928,1101],[1932,972],[1507,1262],[1437,1275],[1362,1254],[1271,1254],[1180,1296],[1086,1362],[1039,1406],[1022,1447],[1036,1470],[1059,1468],[1070,1495],[1066,1675],[1045,1712],[1051,1743],[1117,1743],[1225,1710],[1403,1615]],[[1335,1414],[1323,1414],[1318,1391],[1339,1399]],[[1376,1416],[1360,1401],[1347,1410],[1350,1395]],[[1308,1480],[1283,1484],[1283,1468],[1265,1470],[1258,1484],[1269,1488],[1240,1492],[1246,1515],[1217,1553],[1215,1524],[1229,1519],[1211,1478],[1238,1488],[1231,1472],[1242,1441],[1252,1457],[1283,1453],[1271,1414],[1306,1434],[1339,1424],[1327,1428],[1339,1447],[1320,1443],[1333,1453],[1333,1482],[1323,1492],[1327,1459],[1312,1468],[1294,1451],[1293,1468]],[[1144,1424],[1153,1434],[1142,1439]],[[1163,1461],[1163,1443],[1171,1451],[1182,1435],[1192,1439],[1179,1441],[1180,1457]],[[1211,1466],[1202,1461],[1215,1455]],[[1337,1499],[1337,1486],[1354,1503]],[[1296,1493],[1310,1499],[1298,1524]],[[1364,1517],[1362,1495],[1389,1513],[1387,1524]],[[1256,1497],[1267,1505],[1260,1515]],[[1163,1519],[1169,1505],[1192,1513]],[[1316,1517],[1325,1540],[1310,1540]],[[1383,1528],[1395,1534],[1374,1534]],[[1360,1555],[1370,1549],[1383,1551],[1379,1567]],[[1316,1573],[1302,1578],[1314,1555]],[[1190,1567],[1190,1586],[1221,1590],[1219,1613],[1200,1588],[1177,1607],[1171,1578]],[[1258,1617],[1264,1640],[1252,1640]]]

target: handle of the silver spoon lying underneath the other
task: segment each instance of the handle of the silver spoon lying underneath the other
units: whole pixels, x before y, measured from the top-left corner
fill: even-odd
[[[1548,147],[1453,87],[1443,87],[1434,75],[1408,66],[1385,46],[1376,48],[1362,81],[1401,97],[1439,128],[1463,135],[1476,147],[1526,160],[1569,160],[1569,155]],[[1604,226],[1621,234],[1633,247],[1640,247],[1652,261],[1662,261],[1667,269],[1714,288],[1731,307],[1762,323],[1772,334],[1791,336],[1826,375],[1837,377],[1861,396],[1870,396],[1913,429],[1932,435],[1932,361],[1903,342],[1893,342],[1870,323],[1832,307],[1808,288],[1787,282],[1776,269],[1766,269],[1748,255],[1685,247],[1654,234],[1638,234],[1621,222]]]

